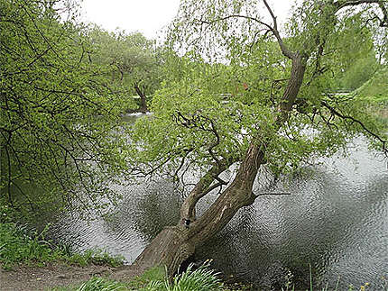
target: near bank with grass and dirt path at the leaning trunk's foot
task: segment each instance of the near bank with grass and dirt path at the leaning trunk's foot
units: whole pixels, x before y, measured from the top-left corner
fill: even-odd
[[[13,210],[5,206],[0,207],[0,210],[2,291],[89,290],[85,287],[87,285],[93,285],[93,290],[100,290],[99,285],[107,286],[106,290],[145,291],[159,290],[159,287],[154,289],[153,286],[168,284],[163,268],[154,268],[142,277],[134,277],[135,272],[131,275],[131,268],[124,266],[123,257],[112,257],[102,250],[73,252],[64,245],[45,240],[44,231],[27,231],[23,225],[14,223],[17,219]],[[172,287],[201,282],[203,286],[214,286],[210,288],[214,290],[249,290],[224,287],[220,278],[208,267],[206,265],[195,270],[189,268],[186,275],[182,273],[174,278]],[[134,277],[131,283],[120,283],[127,282],[129,277]]]

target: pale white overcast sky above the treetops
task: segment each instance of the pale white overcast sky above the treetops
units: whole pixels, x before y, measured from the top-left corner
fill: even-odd
[[[244,0],[243,0],[244,1]],[[280,20],[287,16],[293,0],[270,0]],[[148,39],[167,26],[177,14],[180,0],[84,0],[83,20],[107,31],[142,32]]]

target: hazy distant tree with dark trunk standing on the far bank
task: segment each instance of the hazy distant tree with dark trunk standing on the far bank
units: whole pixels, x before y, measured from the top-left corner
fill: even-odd
[[[139,95],[139,111],[145,113],[149,95],[162,82],[162,59],[159,58],[153,41],[140,32],[105,32],[92,29],[89,38],[97,47],[91,57],[99,64],[109,65],[115,73],[112,80],[124,88],[124,94]]]

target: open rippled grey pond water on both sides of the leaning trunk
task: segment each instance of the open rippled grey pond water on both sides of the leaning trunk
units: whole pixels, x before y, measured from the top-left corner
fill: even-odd
[[[278,186],[291,196],[263,196],[240,210],[195,259],[214,259],[226,276],[274,290],[289,273],[297,286],[309,286],[309,269],[317,286],[335,286],[339,277],[339,290],[365,282],[381,289],[388,272],[388,171],[363,141],[350,150],[350,159],[325,159],[308,177]],[[112,219],[88,224],[63,218],[54,235],[132,262],[164,226],[178,221],[181,199],[166,181],[120,191],[125,201]]]

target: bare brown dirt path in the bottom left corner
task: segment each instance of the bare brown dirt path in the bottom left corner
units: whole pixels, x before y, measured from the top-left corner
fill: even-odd
[[[15,267],[5,271],[0,266],[1,291],[48,291],[55,286],[77,286],[93,276],[111,277],[119,269],[105,266],[85,268],[54,263],[42,268]]]

